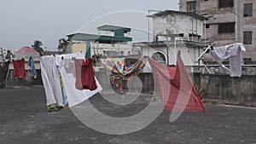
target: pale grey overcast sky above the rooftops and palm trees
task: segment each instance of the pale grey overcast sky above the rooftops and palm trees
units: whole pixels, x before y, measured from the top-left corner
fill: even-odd
[[[16,50],[38,39],[47,50],[56,50],[58,39],[78,32],[102,15],[166,9],[178,10],[178,0],[1,0],[0,43],[3,48]]]

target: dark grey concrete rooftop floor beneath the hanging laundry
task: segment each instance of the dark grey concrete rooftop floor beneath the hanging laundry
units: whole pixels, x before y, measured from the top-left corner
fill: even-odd
[[[170,123],[171,112],[163,111],[148,127],[126,135],[107,135],[88,128],[70,108],[47,112],[44,88],[0,89],[1,144],[79,143],[256,143],[256,108],[206,104],[207,112],[183,112]],[[90,98],[95,107],[108,114],[126,115],[145,107],[111,106],[101,95]],[[109,108],[110,107],[110,108]]]

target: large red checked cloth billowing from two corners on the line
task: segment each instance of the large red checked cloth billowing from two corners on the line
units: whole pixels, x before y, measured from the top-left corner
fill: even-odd
[[[180,53],[177,54],[177,66],[166,66],[151,58],[148,58],[148,62],[154,72],[166,110],[206,112]]]

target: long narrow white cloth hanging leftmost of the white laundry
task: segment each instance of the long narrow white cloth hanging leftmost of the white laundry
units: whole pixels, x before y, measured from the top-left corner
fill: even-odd
[[[42,56],[40,67],[47,106],[56,103],[58,106],[64,107],[61,92],[61,81],[59,72],[55,66],[55,57]]]

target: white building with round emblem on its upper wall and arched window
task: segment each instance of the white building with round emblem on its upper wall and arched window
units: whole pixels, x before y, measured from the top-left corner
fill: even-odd
[[[204,17],[188,12],[164,10],[148,15],[153,19],[153,42],[133,43],[143,55],[166,65],[175,65],[181,51],[186,66],[201,65],[197,58],[206,47],[201,43]]]

